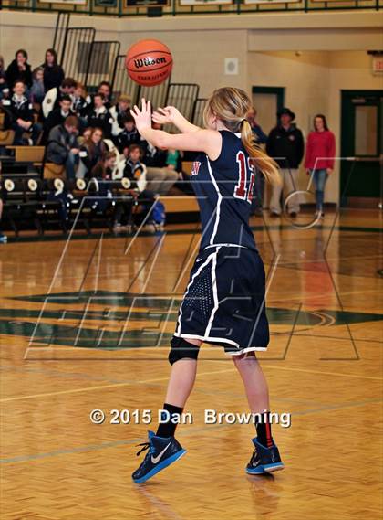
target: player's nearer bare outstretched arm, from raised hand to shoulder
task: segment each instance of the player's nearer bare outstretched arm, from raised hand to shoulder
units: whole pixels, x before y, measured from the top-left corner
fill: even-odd
[[[142,99],[141,110],[135,105],[130,113],[140,135],[157,148],[204,152],[212,160],[217,159],[221,153],[222,136],[215,130],[198,129],[191,133],[171,134],[151,128],[150,101]]]

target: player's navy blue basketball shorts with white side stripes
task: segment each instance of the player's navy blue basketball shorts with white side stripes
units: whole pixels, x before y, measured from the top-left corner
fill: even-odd
[[[229,355],[266,350],[264,263],[254,249],[214,246],[194,262],[174,335],[221,345]]]

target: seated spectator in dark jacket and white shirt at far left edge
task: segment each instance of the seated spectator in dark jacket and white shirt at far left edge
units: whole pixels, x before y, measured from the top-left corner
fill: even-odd
[[[33,106],[24,95],[26,86],[18,80],[13,88],[14,95],[10,100],[3,100],[2,105],[9,114],[11,128],[15,131],[14,144],[36,144],[41,132],[41,125],[36,122]],[[24,133],[28,137],[24,137]]]

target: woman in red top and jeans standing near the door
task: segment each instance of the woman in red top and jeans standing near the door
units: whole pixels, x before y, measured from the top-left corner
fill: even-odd
[[[317,114],[314,118],[314,131],[308,134],[305,152],[307,174],[313,175],[316,185],[316,216],[323,213],[325,185],[328,175],[334,169],[336,144],[334,133],[328,130],[326,117]]]

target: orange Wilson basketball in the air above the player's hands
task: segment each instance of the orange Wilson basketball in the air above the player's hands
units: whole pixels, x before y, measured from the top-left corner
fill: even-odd
[[[157,39],[142,39],[133,44],[125,59],[129,77],[147,87],[160,85],[171,74],[171,51]]]

